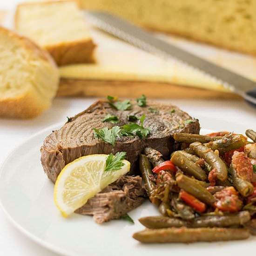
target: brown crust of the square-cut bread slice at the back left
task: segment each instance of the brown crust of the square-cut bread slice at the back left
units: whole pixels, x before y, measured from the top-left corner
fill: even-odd
[[[20,7],[22,6],[29,6],[31,4],[49,4],[53,1],[43,1],[43,2],[33,2],[33,3],[21,3],[17,6],[16,12],[14,15],[14,27],[15,29],[18,28],[19,22],[19,12]],[[58,0],[56,2],[75,2],[76,0]],[[58,66],[67,65],[67,64],[75,64],[75,63],[94,63],[94,48],[96,44],[94,44],[91,38],[86,40],[78,40],[73,42],[62,42],[56,45],[49,45],[45,46],[44,48],[52,55],[54,61]]]

